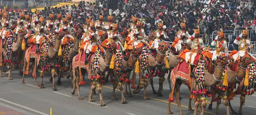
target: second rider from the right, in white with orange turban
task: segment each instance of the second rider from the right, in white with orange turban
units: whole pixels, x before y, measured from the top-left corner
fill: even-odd
[[[227,41],[224,39],[224,33],[222,31],[218,32],[218,36],[215,37],[211,45],[215,45],[215,50],[212,53],[212,61],[217,59],[217,56],[224,54],[224,51],[227,52]]]

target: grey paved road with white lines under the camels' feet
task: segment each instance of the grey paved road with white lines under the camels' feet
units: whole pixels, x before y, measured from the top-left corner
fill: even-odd
[[[152,94],[150,85],[147,88],[147,95],[150,100],[143,100],[143,90],[133,97],[125,95],[128,104],[121,103],[120,92],[116,90],[116,97],[119,100],[111,100],[112,84],[107,83],[103,88],[106,107],[99,107],[99,95],[93,95],[96,102],[88,102],[90,92],[90,84],[87,83],[81,86],[81,96],[84,100],[78,100],[77,92],[71,95],[71,80],[62,79],[63,84],[57,86],[58,91],[52,91],[52,83],[48,81],[49,76],[44,79],[45,89],[35,87],[34,79],[31,76],[26,76],[26,84],[20,84],[21,76],[17,71],[12,72],[13,80],[7,80],[7,75],[0,78],[0,115],[49,115],[52,108],[53,115],[166,115],[168,103],[168,82],[164,82],[163,97],[157,97]],[[86,77],[87,78],[87,77]],[[38,79],[40,83],[41,79]],[[90,80],[86,80],[90,82]],[[154,78],[155,89],[158,89],[158,78]],[[193,115],[189,112],[188,97],[189,90],[187,86],[181,86],[181,104],[184,115]],[[244,115],[254,115],[256,109],[256,95],[246,98],[246,103],[243,108]],[[208,98],[210,101],[210,99]],[[239,96],[234,97],[231,102],[233,108],[239,109]],[[192,104],[192,107],[194,105]],[[216,105],[213,105],[214,110],[207,110],[206,115],[214,115]],[[176,103],[171,105],[174,115],[179,115],[179,109]],[[226,114],[226,109],[223,105],[220,106],[220,115]]]

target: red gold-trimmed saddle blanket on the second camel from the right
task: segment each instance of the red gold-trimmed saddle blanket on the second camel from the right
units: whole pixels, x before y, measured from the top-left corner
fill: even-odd
[[[179,68],[178,68],[179,67]],[[177,65],[171,73],[172,83],[175,83],[176,79],[186,81],[186,85],[189,86],[189,65],[183,61]]]

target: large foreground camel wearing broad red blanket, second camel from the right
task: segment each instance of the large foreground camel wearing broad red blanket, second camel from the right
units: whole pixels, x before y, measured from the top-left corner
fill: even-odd
[[[219,58],[221,60],[224,60],[224,58],[226,58],[225,56]],[[221,81],[221,77],[222,77],[222,72],[223,72],[223,68],[224,68],[224,63],[226,63],[227,60],[221,62],[221,61],[218,61],[216,64],[217,66],[215,66],[215,71],[213,74],[209,73],[208,71],[205,71],[205,75],[204,75],[204,85],[206,87],[212,87],[212,86],[215,86],[216,84],[218,84],[220,81]],[[184,64],[182,64],[184,63]],[[182,62],[180,63],[179,65],[177,65],[177,67],[179,66],[188,66],[186,64],[186,62]],[[186,67],[187,68],[187,67]],[[177,68],[175,67],[174,70],[176,70]],[[173,71],[172,70],[172,73]],[[173,74],[174,75],[174,74]],[[169,94],[169,103],[168,103],[168,109],[167,109],[167,113],[168,114],[173,114],[173,112],[171,112],[171,108],[170,108],[170,105],[171,105],[171,101],[172,101],[172,96],[173,96],[173,93],[175,91],[175,95],[176,95],[176,101],[177,101],[177,105],[180,109],[180,115],[183,115],[182,111],[181,111],[181,106],[180,106],[180,99],[177,98],[177,97],[180,97],[180,86],[181,84],[186,84],[187,86],[189,86],[190,84],[187,83],[187,81],[184,81],[184,80],[181,80],[181,79],[176,79],[175,80],[175,83],[174,84],[174,90],[172,91],[172,93]],[[193,87],[195,87],[195,79],[193,79],[192,81],[192,84],[193,84]],[[189,86],[190,87],[190,86]],[[199,107],[199,104],[200,104],[200,108],[201,106],[203,106],[203,110],[201,111],[200,109],[200,112],[201,112],[201,115],[204,115],[204,110],[205,110],[205,107],[207,105],[207,102],[205,99],[203,99],[201,97],[201,95],[196,95],[196,101],[195,101],[195,111],[194,111],[194,115],[197,115],[197,108]],[[201,100],[200,100],[201,99]],[[198,102],[200,100],[200,102]]]

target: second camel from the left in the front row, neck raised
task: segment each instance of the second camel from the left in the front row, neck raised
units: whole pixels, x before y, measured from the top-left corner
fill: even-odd
[[[49,48],[48,48],[48,58],[47,58],[47,59],[49,60],[50,65],[47,65],[47,66],[49,66],[49,69],[51,68],[51,69],[50,69],[50,70],[51,70],[51,76],[52,76],[52,78],[53,78],[52,90],[54,90],[54,91],[57,90],[56,87],[55,87],[55,77],[57,76],[57,73],[56,73],[56,72],[58,72],[58,67],[55,67],[56,61],[54,62],[54,59],[58,56],[58,50],[59,50],[60,45],[61,45],[61,38],[62,38],[64,35],[65,35],[65,32],[64,32],[64,31],[61,31],[61,33],[60,33],[59,35],[57,35],[57,37],[56,37],[56,39],[55,39],[54,46],[53,46],[53,47],[50,47],[50,46],[49,46]],[[45,40],[45,41],[47,41],[47,40]],[[32,50],[33,46],[35,46],[35,45],[31,45],[30,48],[28,48],[28,49],[26,50],[26,53],[25,53],[25,57],[24,57],[24,67],[23,67],[24,73],[23,73],[23,78],[22,78],[22,80],[21,80],[21,84],[26,84],[26,83],[25,83],[25,80],[24,80],[24,76],[25,76],[25,74],[28,74],[28,67],[27,67],[27,66],[28,66],[28,64],[29,64],[30,59],[35,58],[35,60],[36,60],[36,61],[35,61],[35,64],[34,64],[35,67],[34,67],[34,70],[33,70],[33,72],[32,72],[33,76],[35,76],[35,68],[37,68],[38,62],[41,62],[41,61],[37,61],[37,57],[38,57],[39,55],[35,55],[35,56],[30,57],[29,54],[32,52],[31,50]],[[41,48],[43,48],[43,47],[41,47]],[[40,53],[39,53],[39,54],[40,54]],[[40,66],[43,66],[43,65],[46,65],[46,64],[43,63],[43,62],[41,62],[41,63],[40,63]],[[42,89],[42,88],[44,88],[44,84],[43,84],[44,70],[41,71],[40,77],[41,77],[41,84],[40,84],[40,86],[38,85],[37,77],[35,76],[34,78],[35,78],[36,86],[37,86],[37,87],[40,87],[40,88]]]

